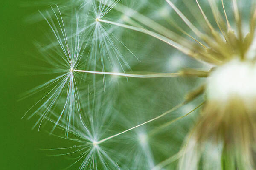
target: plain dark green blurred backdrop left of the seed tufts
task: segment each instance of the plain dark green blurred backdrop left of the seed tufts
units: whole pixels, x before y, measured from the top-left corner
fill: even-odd
[[[31,0],[34,3],[36,0]],[[20,71],[28,65],[33,40],[41,31],[35,24],[26,23],[29,14],[37,12],[36,6],[28,7],[29,1],[1,0],[0,2],[0,169],[1,170],[57,170],[70,165],[63,157],[46,156],[40,148],[52,148],[63,142],[49,136],[44,130],[31,130],[33,120],[21,119],[35,103],[29,98],[18,102],[19,95],[38,85],[35,77],[21,76]],[[29,52],[28,52],[29,51]]]

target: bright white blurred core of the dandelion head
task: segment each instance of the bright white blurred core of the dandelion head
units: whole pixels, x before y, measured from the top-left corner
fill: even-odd
[[[256,97],[256,68],[250,62],[234,59],[214,70],[207,80],[209,99],[227,101],[239,96],[244,101]]]

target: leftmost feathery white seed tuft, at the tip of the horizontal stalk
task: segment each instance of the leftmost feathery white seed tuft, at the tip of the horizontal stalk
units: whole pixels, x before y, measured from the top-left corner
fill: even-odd
[[[49,89],[49,92],[40,99],[32,108],[36,105],[40,105],[38,109],[36,109],[29,118],[34,116],[37,113],[40,113],[40,118],[35,123],[35,126],[39,124],[39,128],[41,123],[44,121],[44,118],[49,117],[49,111],[55,108],[57,105],[63,104],[61,110],[58,111],[59,116],[56,120],[55,126],[52,130],[55,129],[58,122],[61,119],[65,119],[67,123],[67,133],[69,130],[69,126],[73,123],[73,115],[80,114],[80,102],[79,102],[79,93],[76,84],[76,75],[73,74],[73,70],[79,66],[81,55],[84,53],[82,49],[83,42],[81,40],[82,34],[77,34],[72,39],[68,40],[67,35],[73,34],[73,28],[71,31],[67,32],[67,29],[64,26],[64,20],[61,15],[61,12],[56,6],[56,9],[52,7],[52,10],[55,14],[58,25],[56,26],[52,17],[48,14],[49,19],[46,17],[45,20],[49,24],[55,38],[58,40],[58,45],[54,50],[48,51],[47,53],[44,51],[44,57],[47,59],[49,64],[57,67],[62,73],[65,73],[61,76],[52,79],[43,85],[38,86],[37,88],[29,91],[29,94],[35,94],[37,91],[41,91],[44,89]],[[57,12],[55,12],[57,10]],[[78,23],[78,15],[76,15],[76,29],[75,31],[79,31],[79,23]],[[60,31],[59,31],[60,30]],[[62,41],[64,39],[64,41]],[[42,48],[44,50],[44,47]],[[60,56],[60,59],[56,59],[55,56]],[[61,99],[64,98],[64,102],[61,102]],[[32,109],[31,108],[31,109]],[[31,110],[30,109],[30,110]],[[35,127],[34,126],[34,127]],[[38,128],[38,130],[39,130]]]

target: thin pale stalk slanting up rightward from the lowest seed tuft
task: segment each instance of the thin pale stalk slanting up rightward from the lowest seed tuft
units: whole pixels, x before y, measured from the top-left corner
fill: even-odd
[[[115,135],[113,135],[113,136],[107,137],[107,138],[102,139],[102,140],[100,140],[100,141],[98,141],[98,142],[95,142],[95,143],[96,143],[96,144],[100,144],[100,143],[105,142],[105,141],[107,141],[107,140],[109,140],[109,139],[112,139],[112,138],[114,138],[114,137],[116,137],[116,136],[119,136],[119,135],[121,135],[121,134],[123,134],[123,133],[125,133],[125,132],[128,132],[128,131],[133,130],[133,129],[137,128],[137,127],[140,127],[140,126],[142,126],[142,125],[145,125],[145,124],[147,124],[147,123],[149,123],[149,122],[152,122],[152,121],[154,121],[154,120],[157,120],[157,119],[159,119],[159,118],[161,118],[161,117],[163,117],[163,116],[165,116],[165,115],[167,115],[167,114],[169,114],[169,113],[172,113],[173,111],[177,110],[178,108],[182,107],[182,106],[185,105],[185,104],[186,104],[186,102],[183,102],[183,103],[181,103],[181,104],[179,104],[179,105],[176,105],[174,108],[170,109],[169,111],[164,112],[164,113],[161,114],[160,116],[157,116],[157,117],[155,117],[155,118],[153,118],[153,119],[148,120],[147,122],[144,122],[144,123],[142,123],[142,124],[140,124],[140,125],[134,126],[134,127],[130,128],[130,129],[128,129],[128,130],[125,130],[125,131],[123,131],[123,132],[121,132],[121,133],[117,133],[117,134],[115,134]]]

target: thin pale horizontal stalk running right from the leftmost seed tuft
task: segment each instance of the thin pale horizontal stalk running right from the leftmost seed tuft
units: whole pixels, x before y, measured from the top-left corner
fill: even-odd
[[[103,74],[103,75],[115,75],[124,77],[136,77],[136,78],[157,78],[157,77],[178,77],[180,73],[154,73],[154,74],[127,74],[117,72],[102,72],[102,71],[87,71],[87,70],[72,70],[75,72]]]

